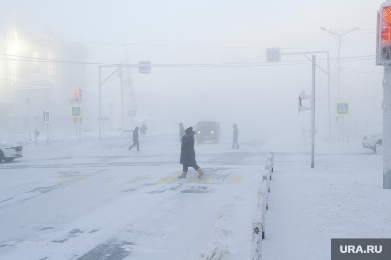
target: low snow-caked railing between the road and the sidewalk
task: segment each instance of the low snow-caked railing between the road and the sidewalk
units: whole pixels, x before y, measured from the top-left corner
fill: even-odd
[[[270,192],[270,180],[274,171],[274,153],[270,152],[266,158],[265,172],[262,174],[261,187],[258,189],[257,215],[252,219],[253,224],[253,245],[250,259],[260,260],[262,239],[265,238],[265,213],[268,209],[268,199]]]

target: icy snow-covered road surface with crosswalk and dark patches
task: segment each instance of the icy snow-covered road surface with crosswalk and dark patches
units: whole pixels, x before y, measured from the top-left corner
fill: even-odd
[[[84,138],[0,164],[0,258],[195,259],[214,242],[247,258],[269,151],[196,145],[205,175],[179,179],[176,136],[130,144]]]

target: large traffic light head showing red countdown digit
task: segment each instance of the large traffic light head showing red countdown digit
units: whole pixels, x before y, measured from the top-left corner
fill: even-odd
[[[385,2],[378,10],[376,38],[376,65],[391,63],[391,3]]]

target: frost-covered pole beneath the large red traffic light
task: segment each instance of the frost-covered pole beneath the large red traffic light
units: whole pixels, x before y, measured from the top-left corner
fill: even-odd
[[[383,189],[391,189],[391,64],[383,67]]]

